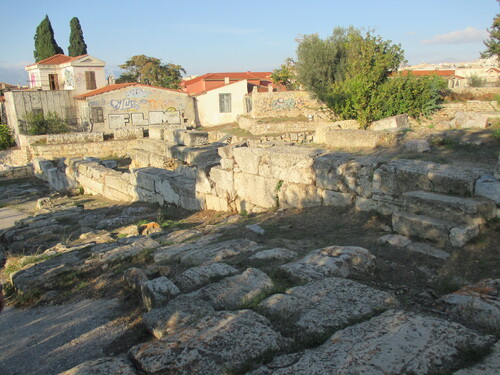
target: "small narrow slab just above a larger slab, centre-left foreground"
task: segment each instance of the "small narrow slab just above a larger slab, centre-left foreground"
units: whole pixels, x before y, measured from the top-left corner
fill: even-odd
[[[177,276],[174,281],[184,293],[188,293],[237,273],[239,271],[236,268],[225,263],[212,263],[207,266],[192,267]]]

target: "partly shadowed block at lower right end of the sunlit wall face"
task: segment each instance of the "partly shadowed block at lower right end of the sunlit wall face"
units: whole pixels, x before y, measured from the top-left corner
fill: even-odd
[[[323,195],[316,186],[284,182],[277,191],[280,208],[316,207],[323,204]]]

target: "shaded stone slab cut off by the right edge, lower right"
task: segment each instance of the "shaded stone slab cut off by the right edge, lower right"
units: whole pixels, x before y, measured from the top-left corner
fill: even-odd
[[[450,315],[477,324],[495,334],[500,332],[500,279],[482,280],[438,300]]]

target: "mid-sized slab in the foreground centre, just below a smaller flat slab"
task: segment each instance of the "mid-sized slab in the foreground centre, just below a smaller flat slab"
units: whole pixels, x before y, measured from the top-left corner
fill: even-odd
[[[241,275],[227,277],[191,293],[209,301],[217,310],[239,309],[274,286],[269,276],[257,268],[247,268]]]

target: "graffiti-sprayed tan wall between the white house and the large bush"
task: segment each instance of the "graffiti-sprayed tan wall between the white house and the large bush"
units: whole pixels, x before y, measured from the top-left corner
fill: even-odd
[[[329,120],[333,115],[307,91],[252,92],[252,118],[310,116]]]

